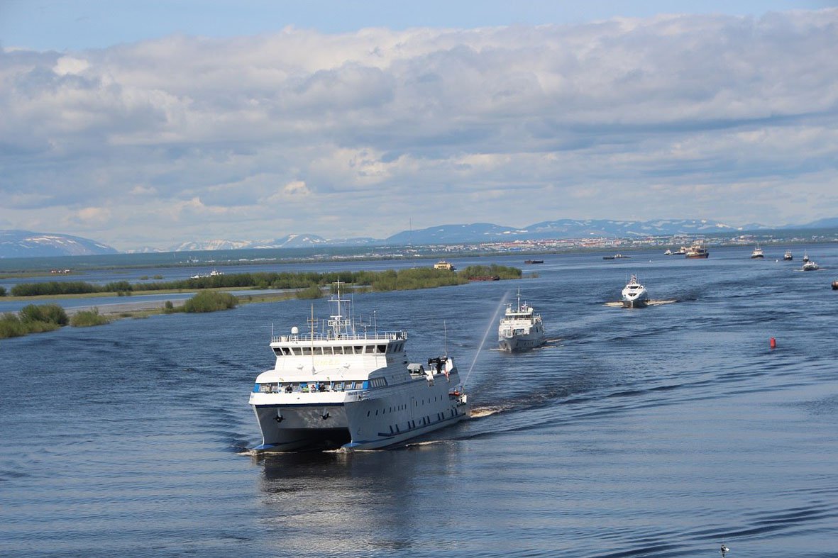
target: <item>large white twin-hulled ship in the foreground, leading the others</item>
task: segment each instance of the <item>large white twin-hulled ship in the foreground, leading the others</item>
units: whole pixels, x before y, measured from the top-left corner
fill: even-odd
[[[356,333],[337,313],[323,333],[272,336],[273,369],[256,378],[250,404],[259,452],[375,449],[405,442],[468,416],[457,367],[447,355],[408,364],[405,331]]]

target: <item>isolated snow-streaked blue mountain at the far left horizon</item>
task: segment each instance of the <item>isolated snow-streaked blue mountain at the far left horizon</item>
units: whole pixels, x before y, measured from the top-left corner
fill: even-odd
[[[0,230],[0,258],[96,256],[116,254],[115,248],[80,236]]]

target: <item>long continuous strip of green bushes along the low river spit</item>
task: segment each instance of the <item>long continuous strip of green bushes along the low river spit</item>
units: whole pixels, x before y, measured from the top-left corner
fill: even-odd
[[[325,287],[333,285],[337,281],[369,286],[374,291],[396,291],[458,285],[468,282],[469,276],[479,273],[499,275],[504,279],[517,278],[521,275],[520,269],[504,266],[474,266],[458,272],[435,270],[427,267],[398,271],[339,271],[329,273],[256,272],[216,275],[199,277],[197,279],[182,279],[179,281],[133,284],[127,281],[111,282],[106,285],[93,285],[80,281],[20,283],[12,287],[12,295],[14,297],[35,297],[39,295],[54,296],[95,292],[130,293],[139,291],[178,291],[246,287],[259,289],[307,289],[315,286]]]

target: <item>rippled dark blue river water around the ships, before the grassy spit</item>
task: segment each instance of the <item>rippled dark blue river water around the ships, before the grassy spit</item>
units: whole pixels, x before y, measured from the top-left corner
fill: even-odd
[[[477,416],[390,451],[246,454],[272,325],[304,328],[308,301],[3,340],[0,553],[835,556],[838,247],[809,247],[814,272],[774,251],[545,256],[520,282],[355,295],[416,362],[444,322],[471,369]],[[677,302],[605,306],[630,273]],[[518,287],[552,340],[502,354]]]

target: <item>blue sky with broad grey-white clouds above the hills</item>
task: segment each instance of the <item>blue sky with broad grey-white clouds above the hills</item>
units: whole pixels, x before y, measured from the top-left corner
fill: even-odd
[[[838,216],[835,3],[576,4],[0,0],[0,229]]]

